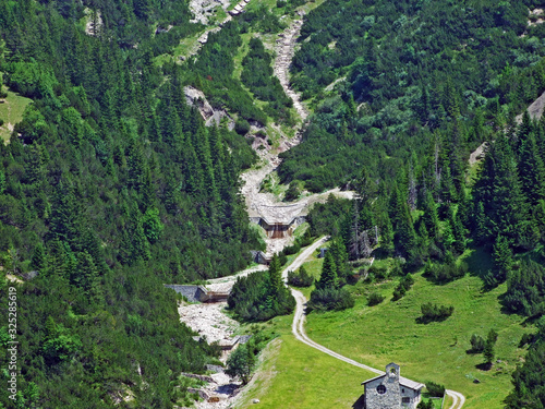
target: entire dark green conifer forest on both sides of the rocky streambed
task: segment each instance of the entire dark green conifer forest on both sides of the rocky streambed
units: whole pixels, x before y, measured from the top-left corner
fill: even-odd
[[[278,175],[288,197],[341,187],[358,199],[315,205],[302,240],[237,281],[235,317],[293,311],[281,265],[313,237],[332,238],[319,279],[300,270],[290,281],[315,284],[314,313],[354,305],[352,262],[395,258],[397,301],[417,270],[434,285],[459,279],[461,256],[477,249],[493,260],[483,291],[507,282],[504,311],[537,326],[506,405],[545,405],[545,119],[524,112],[545,91],[545,24],[529,25],[540,5],[327,0],[304,17],[291,70],[313,115]],[[257,160],[242,135],[295,119],[263,37],[235,75],[242,35],[278,33],[280,19],[245,12],[184,64],[158,63],[203,28],[191,17],[181,0],[0,0],[0,94],[32,99],[0,144],[0,303],[3,276],[22,279],[17,408],[190,405],[180,373],[218,362],[164,284],[233,274],[264,250],[239,194]],[[185,85],[235,118],[234,131],[206,128]],[[484,157],[469,163],[477,146]],[[423,320],[451,309],[423,304]]]

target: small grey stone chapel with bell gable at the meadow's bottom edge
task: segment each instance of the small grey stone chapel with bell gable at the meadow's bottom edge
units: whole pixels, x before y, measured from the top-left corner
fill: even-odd
[[[362,383],[365,386],[365,409],[415,409],[421,401],[424,384],[401,377],[399,365],[386,365],[384,375]]]

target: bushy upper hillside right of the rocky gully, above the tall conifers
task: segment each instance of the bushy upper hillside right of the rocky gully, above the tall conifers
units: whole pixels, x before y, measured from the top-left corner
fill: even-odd
[[[411,161],[423,166],[437,134],[449,155],[455,117],[469,154],[498,105],[512,120],[545,87],[543,26],[526,25],[534,7],[334,0],[308,13],[291,71],[315,115],[306,144],[283,155],[281,180],[322,191],[355,183],[362,167],[399,179]]]

